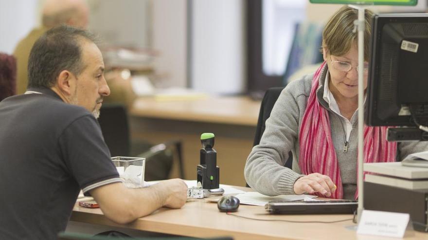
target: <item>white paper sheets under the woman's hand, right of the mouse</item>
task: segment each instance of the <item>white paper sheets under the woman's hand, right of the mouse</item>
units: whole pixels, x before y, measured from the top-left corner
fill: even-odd
[[[241,204],[265,206],[269,201],[293,202],[293,201],[303,200],[305,198],[314,198],[317,196],[302,194],[302,195],[279,195],[279,196],[270,197],[267,195],[263,195],[262,193],[259,193],[259,192],[246,192],[246,193],[238,194],[236,195],[236,197],[239,198],[239,202]]]

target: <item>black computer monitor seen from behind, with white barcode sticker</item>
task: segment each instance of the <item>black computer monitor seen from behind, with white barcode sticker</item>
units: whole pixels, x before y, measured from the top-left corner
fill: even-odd
[[[374,16],[366,101],[369,126],[428,126],[428,14]]]

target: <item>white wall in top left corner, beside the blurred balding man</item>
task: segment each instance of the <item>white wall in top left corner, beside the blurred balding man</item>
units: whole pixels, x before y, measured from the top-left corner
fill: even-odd
[[[15,46],[38,25],[37,0],[0,0],[0,52],[12,54]]]

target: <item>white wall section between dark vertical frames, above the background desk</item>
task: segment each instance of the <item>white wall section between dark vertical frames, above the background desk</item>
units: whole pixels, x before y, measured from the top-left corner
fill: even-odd
[[[192,0],[192,88],[242,93],[246,85],[244,0]]]

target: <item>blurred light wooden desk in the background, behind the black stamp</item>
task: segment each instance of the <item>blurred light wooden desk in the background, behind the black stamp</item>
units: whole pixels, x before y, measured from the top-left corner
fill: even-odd
[[[183,142],[185,178],[196,178],[200,134],[215,134],[220,181],[245,186],[244,166],[251,151],[260,101],[244,96],[211,96],[196,100],[157,101],[140,97],[130,109],[132,138],[161,143]],[[178,177],[177,164],[171,178]]]

